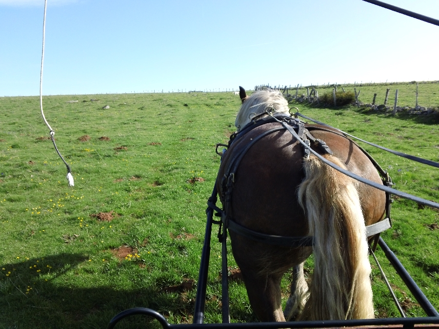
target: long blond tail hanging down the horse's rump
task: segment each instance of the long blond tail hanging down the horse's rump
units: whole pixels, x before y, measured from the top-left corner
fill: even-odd
[[[353,180],[315,156],[303,167],[298,195],[314,236],[314,274],[301,320],[373,318],[365,224]]]

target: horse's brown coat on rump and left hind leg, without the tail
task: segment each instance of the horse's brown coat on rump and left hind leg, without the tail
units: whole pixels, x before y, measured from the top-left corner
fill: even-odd
[[[230,159],[261,132],[277,126],[280,124],[275,122],[253,129],[232,143],[225,153],[217,178],[217,190],[223,204],[225,191],[221,181]],[[381,183],[371,161],[351,140],[313,128],[319,128],[319,125],[309,126],[311,134],[325,141],[334,152],[333,156],[347,170]],[[316,147],[312,147],[320,153]],[[235,173],[228,215],[238,224],[256,232],[307,236],[308,221],[297,197],[298,186],[304,179],[303,156],[302,146],[286,130],[274,132],[257,141],[242,158]],[[354,181],[354,186],[359,195],[365,224],[381,220],[385,209],[384,192],[357,181]],[[303,263],[312,253],[312,247],[268,245],[232,231],[229,233],[233,254],[256,315],[261,321],[285,321],[280,304],[281,277],[288,269]],[[302,315],[302,318],[305,319],[306,315]]]

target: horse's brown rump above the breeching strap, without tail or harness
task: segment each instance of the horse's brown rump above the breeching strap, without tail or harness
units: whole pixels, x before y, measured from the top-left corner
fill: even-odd
[[[224,170],[229,161],[262,132],[279,123],[259,126],[240,137],[224,155],[217,188],[224,204]],[[308,125],[305,125],[305,128]],[[371,161],[350,139],[309,125],[311,134],[326,142],[346,168],[354,174],[381,183]],[[319,152],[317,147],[311,147]],[[230,217],[240,225],[257,232],[283,236],[305,236],[308,232],[303,209],[297,200],[297,187],[304,178],[303,147],[286,130],[267,135],[244,155],[234,177]],[[385,194],[355,181],[366,225],[383,218]],[[294,217],[294,219],[293,219]],[[260,220],[258,220],[260,219]]]

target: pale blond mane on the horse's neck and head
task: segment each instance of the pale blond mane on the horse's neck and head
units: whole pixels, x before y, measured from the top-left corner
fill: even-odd
[[[261,90],[254,92],[241,105],[236,116],[235,126],[238,131],[251,121],[251,118],[265,111],[289,115],[288,102],[278,90]]]

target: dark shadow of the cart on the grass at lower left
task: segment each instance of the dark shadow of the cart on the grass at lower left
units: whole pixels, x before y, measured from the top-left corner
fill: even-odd
[[[63,253],[0,265],[0,328],[106,328],[116,314],[135,307],[191,321],[194,301],[184,293],[156,287],[118,290],[105,282],[102,287],[69,286],[71,280],[63,275],[79,275],[78,268],[88,259]],[[142,327],[161,328],[142,316],[122,320],[116,328]]]

